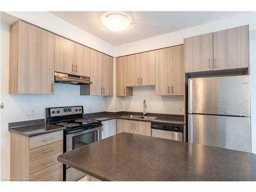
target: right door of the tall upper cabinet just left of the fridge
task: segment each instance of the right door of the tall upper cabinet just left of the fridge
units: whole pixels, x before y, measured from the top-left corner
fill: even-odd
[[[184,95],[185,71],[183,45],[170,48],[170,94]]]

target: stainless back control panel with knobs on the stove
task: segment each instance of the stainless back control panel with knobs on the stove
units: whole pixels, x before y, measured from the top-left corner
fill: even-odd
[[[64,108],[50,108],[50,116],[58,117],[64,115],[75,115],[82,114],[83,109],[82,106],[68,106]]]

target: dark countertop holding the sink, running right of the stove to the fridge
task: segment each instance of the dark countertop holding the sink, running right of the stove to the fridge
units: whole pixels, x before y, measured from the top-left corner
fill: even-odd
[[[124,118],[122,116],[125,115],[141,115],[139,112],[99,112],[99,113],[90,113],[83,114],[84,118],[97,119],[101,121],[108,121],[111,119],[130,119],[136,121],[149,121],[149,122],[157,122],[157,123],[167,123],[167,124],[176,124],[176,125],[184,125],[184,115],[170,115],[170,114],[160,114],[160,113],[147,113],[147,116],[158,117],[154,120],[144,120],[144,119],[131,119]]]

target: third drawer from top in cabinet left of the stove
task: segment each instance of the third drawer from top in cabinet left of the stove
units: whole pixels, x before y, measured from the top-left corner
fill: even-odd
[[[41,159],[34,160],[29,163],[29,174],[35,173],[38,170],[41,170],[43,168],[49,167],[53,164],[58,163],[57,157],[61,155],[62,152],[58,152],[52,155],[48,155],[46,157],[43,157]]]

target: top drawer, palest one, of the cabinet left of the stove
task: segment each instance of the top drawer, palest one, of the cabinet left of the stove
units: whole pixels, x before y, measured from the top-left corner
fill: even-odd
[[[44,135],[38,135],[29,138],[29,149],[55,143],[63,140],[63,131],[48,133]]]

